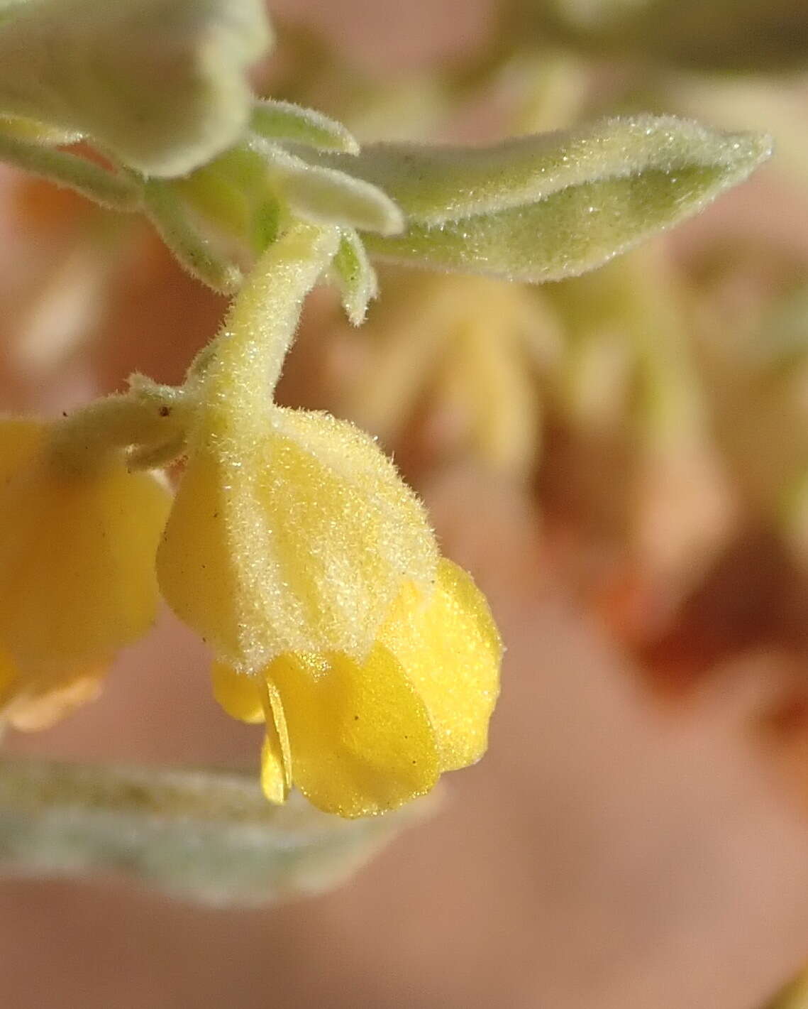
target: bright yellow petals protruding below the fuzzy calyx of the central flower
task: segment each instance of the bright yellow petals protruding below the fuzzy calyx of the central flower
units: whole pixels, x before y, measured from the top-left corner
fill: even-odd
[[[283,801],[293,782],[326,812],[367,816],[483,756],[501,653],[485,597],[441,559],[428,597],[403,584],[364,662],[285,654],[257,676],[217,663],[214,690],[234,717],[266,718],[270,800]]]

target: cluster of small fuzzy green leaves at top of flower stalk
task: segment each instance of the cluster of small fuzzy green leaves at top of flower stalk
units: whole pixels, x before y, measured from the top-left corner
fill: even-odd
[[[288,136],[296,138],[293,150],[281,143]],[[331,275],[347,314],[359,324],[377,282],[358,232],[396,234],[404,217],[378,186],[311,163],[309,155],[320,150],[358,151],[359,144],[321,113],[259,101],[240,144],[185,180],[146,181],[144,209],[179,262],[228,294],[241,282],[239,262],[249,265],[294,218],[339,228],[343,240]]]

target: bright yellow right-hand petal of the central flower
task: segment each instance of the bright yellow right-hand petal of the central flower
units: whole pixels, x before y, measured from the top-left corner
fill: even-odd
[[[499,694],[502,644],[486,597],[445,558],[437,585],[423,601],[411,583],[379,636],[401,663],[429,712],[442,771],[466,767],[488,745]]]

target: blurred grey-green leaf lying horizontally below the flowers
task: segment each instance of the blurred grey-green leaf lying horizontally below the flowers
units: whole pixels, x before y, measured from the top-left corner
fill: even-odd
[[[0,876],[105,872],[217,905],[258,905],[334,886],[412,812],[364,820],[292,795],[264,798],[257,775],[0,764]]]

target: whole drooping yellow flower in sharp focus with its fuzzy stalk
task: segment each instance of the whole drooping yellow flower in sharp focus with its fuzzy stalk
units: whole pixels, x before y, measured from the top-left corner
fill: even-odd
[[[270,248],[189,379],[163,593],[213,646],[216,693],[266,720],[262,783],[345,816],[395,808],[485,751],[501,647],[470,579],[373,440],[272,402],[339,231]]]

